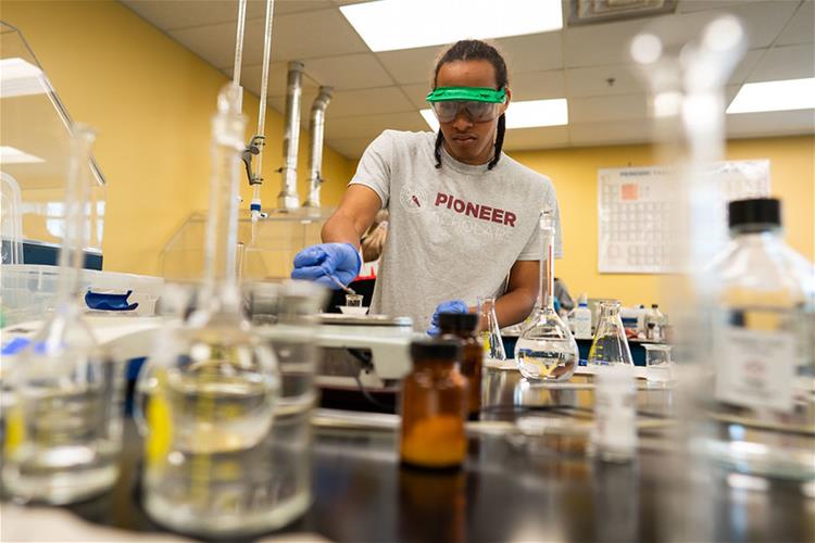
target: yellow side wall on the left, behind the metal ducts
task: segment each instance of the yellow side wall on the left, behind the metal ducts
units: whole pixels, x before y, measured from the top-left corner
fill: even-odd
[[[158,274],[159,253],[184,219],[205,209],[210,116],[226,76],[112,0],[3,0],[0,18],[28,40],[75,121],[98,131],[96,159],[108,178],[104,268]],[[248,137],[258,98],[247,93]],[[267,110],[262,199],[280,189],[283,116]],[[309,135],[300,137],[299,192],[306,195]],[[339,201],[352,171],[326,148],[327,205]],[[247,202],[250,190],[241,185]]]

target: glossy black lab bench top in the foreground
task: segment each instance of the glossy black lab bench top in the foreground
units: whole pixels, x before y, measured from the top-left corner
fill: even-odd
[[[484,394],[481,420],[467,426],[464,468],[442,473],[400,467],[396,416],[358,413],[346,419],[339,412],[318,411],[314,501],[302,518],[263,536],[352,542],[815,541],[813,498],[802,494],[801,485],[773,482],[763,491],[728,485],[734,480],[726,473],[679,454],[679,441],[672,438],[676,402],[664,383],[638,380],[638,454],[623,464],[586,455],[591,376],[535,387],[517,371],[487,369]],[[530,416],[544,417],[551,428],[563,431],[542,437],[519,431],[517,421]],[[125,538],[166,536],[140,506],[141,449],[127,419],[116,487],[60,509],[97,527],[121,529]],[[13,517],[3,522],[9,533]],[[63,539],[77,538],[64,533]]]

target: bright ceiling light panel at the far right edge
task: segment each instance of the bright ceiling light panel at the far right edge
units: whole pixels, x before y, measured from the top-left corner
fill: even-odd
[[[748,83],[739,89],[727,113],[815,109],[815,77]]]

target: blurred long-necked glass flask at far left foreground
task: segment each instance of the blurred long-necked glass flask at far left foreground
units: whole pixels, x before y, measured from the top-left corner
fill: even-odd
[[[23,501],[76,502],[118,477],[124,371],[100,349],[78,302],[95,139],[73,125],[57,310],[11,370],[2,480]]]

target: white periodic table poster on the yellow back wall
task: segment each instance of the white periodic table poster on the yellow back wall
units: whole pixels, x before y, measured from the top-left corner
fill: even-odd
[[[769,194],[769,161],[730,161],[707,173],[719,182],[720,232],[726,232],[727,202]],[[678,194],[665,166],[598,171],[598,268],[601,274],[667,274]],[[713,235],[714,232],[712,232]]]

